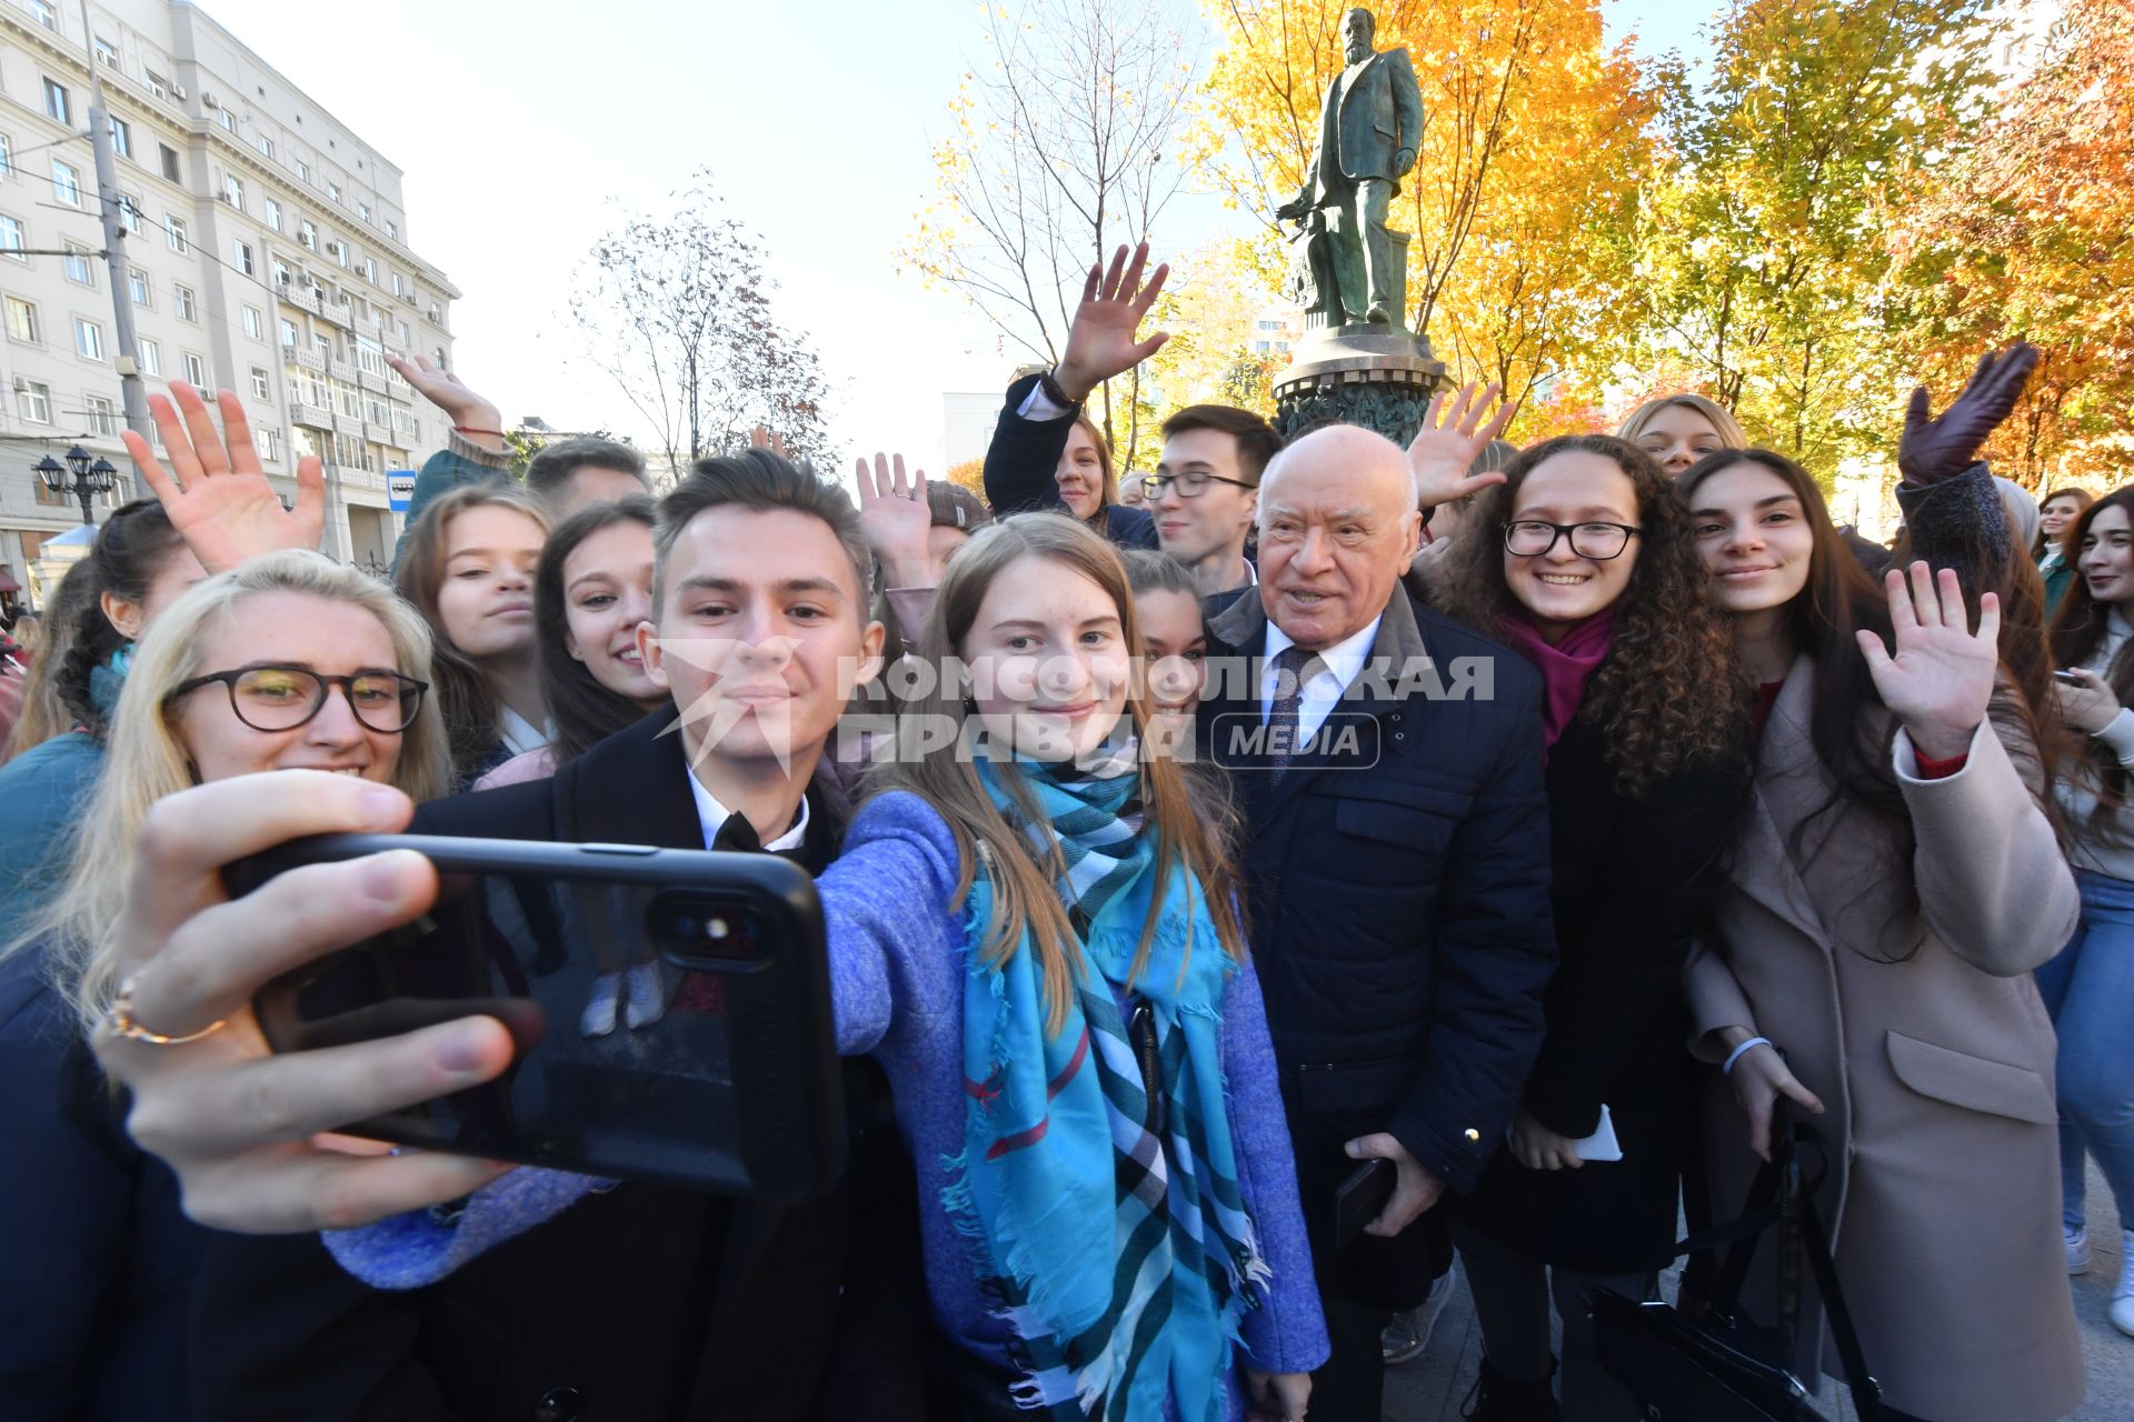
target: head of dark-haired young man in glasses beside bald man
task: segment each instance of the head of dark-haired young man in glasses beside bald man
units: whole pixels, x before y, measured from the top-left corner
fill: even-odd
[[[1193,573],[1208,616],[1259,584],[1244,550],[1259,475],[1280,448],[1272,424],[1233,405],[1187,405],[1163,422],[1163,460],[1142,486],[1157,544]]]

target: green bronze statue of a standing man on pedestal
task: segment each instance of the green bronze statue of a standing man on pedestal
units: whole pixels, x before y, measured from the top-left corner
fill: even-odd
[[[1325,211],[1327,256],[1340,294],[1338,322],[1361,316],[1398,326],[1406,254],[1385,222],[1423,141],[1423,96],[1406,49],[1372,51],[1376,19],[1370,11],[1349,11],[1340,30],[1349,66],[1327,85],[1319,109],[1319,149],[1304,171],[1304,188],[1274,215],[1306,220]],[[1325,301],[1329,294],[1319,292],[1321,305],[1332,305]]]

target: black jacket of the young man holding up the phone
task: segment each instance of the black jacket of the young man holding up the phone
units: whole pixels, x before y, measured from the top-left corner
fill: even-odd
[[[553,780],[442,799],[418,834],[702,849],[659,712]],[[847,806],[809,791],[809,846]],[[871,1064],[869,1064],[871,1068]],[[886,1106],[886,1094],[881,1104]],[[894,1121],[854,1100],[845,1181],[796,1209],[625,1183],[405,1294],[312,1234],[218,1234],[192,1311],[203,1416],[391,1420],[920,1418],[924,1281]],[[888,1141],[883,1141],[883,1130]],[[858,1251],[854,1245],[862,1245]],[[886,1254],[883,1254],[886,1249]],[[862,1401],[864,1399],[864,1401]]]

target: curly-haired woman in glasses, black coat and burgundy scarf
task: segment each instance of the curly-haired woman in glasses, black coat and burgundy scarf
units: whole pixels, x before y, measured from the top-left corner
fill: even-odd
[[[1635,1418],[1581,1292],[1645,1298],[1673,1247],[1692,1068],[1679,974],[1748,785],[1748,689],[1688,510],[1624,439],[1513,458],[1434,582],[1447,612],[1541,667],[1560,951],[1511,1149],[1453,1224],[1485,1345],[1475,1416],[1556,1416],[1554,1271],[1562,1416]]]

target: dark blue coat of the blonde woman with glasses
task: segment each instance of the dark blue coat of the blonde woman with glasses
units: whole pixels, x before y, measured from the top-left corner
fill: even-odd
[[[30,949],[0,964],[0,1418],[192,1418],[186,1305],[207,1230]]]

